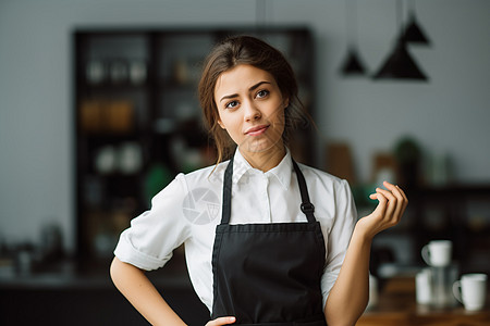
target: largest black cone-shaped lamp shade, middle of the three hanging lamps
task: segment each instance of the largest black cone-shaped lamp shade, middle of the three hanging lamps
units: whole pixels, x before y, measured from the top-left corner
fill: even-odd
[[[428,79],[412,59],[402,38],[396,42],[394,51],[372,77],[375,79]]]

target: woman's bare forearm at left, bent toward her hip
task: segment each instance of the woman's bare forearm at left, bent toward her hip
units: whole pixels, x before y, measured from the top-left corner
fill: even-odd
[[[185,325],[167,304],[144,271],[114,258],[110,273],[115,287],[151,325]]]

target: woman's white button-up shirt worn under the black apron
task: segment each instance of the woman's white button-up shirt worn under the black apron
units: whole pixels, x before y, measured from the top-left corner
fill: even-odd
[[[114,254],[142,269],[166,264],[184,243],[188,274],[200,300],[211,311],[211,256],[215,229],[221,221],[223,176],[228,162],[189,174],[179,174],[151,201],[151,209],[121,234]],[[298,164],[326,246],[321,278],[323,304],[336,280],[356,222],[351,189],[345,180]],[[306,222],[287,151],[281,163],[264,173],[253,168],[237,150],[234,155],[230,224]]]

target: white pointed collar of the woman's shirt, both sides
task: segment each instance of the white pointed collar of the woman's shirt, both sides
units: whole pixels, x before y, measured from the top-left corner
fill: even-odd
[[[254,167],[252,167],[248,161],[245,160],[245,158],[242,155],[238,149],[236,149],[233,160],[234,160],[233,183],[237,184],[242,179],[242,177],[244,177],[250,170],[254,170]],[[293,171],[293,162],[291,158],[291,152],[286,148],[286,154],[281,160],[281,162],[275,167],[269,170],[265,174],[267,176],[269,175],[275,176],[275,178],[282,185],[284,190],[287,190],[290,188],[292,171]]]

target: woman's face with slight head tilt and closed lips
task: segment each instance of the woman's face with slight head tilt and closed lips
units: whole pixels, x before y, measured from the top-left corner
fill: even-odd
[[[243,154],[283,149],[284,109],[289,99],[283,98],[271,74],[240,64],[218,77],[215,102],[218,123]]]

